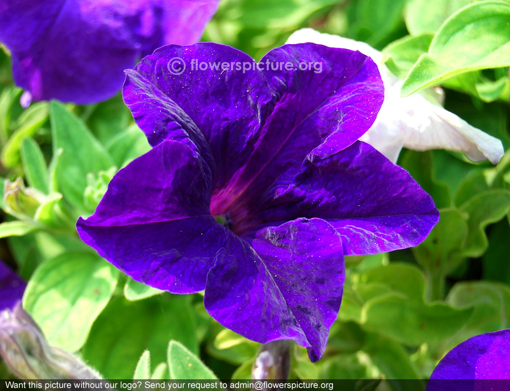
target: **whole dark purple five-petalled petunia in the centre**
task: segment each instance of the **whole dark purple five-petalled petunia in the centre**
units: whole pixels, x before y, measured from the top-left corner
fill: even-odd
[[[177,75],[175,58],[186,64]],[[315,361],[340,308],[344,255],[415,246],[438,211],[406,171],[356,141],[384,96],[370,58],[304,43],[271,50],[263,70],[236,70],[243,63],[253,60],[198,43],[127,71],[124,101],[153,148],[117,173],[78,232],[135,280],[205,290],[225,327],[294,340]]]

